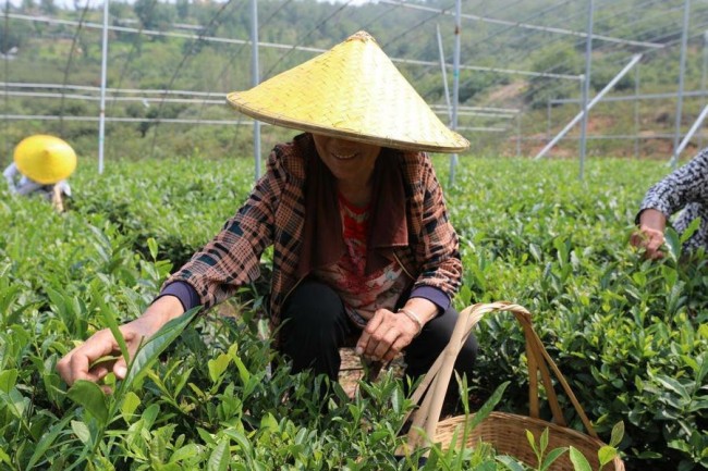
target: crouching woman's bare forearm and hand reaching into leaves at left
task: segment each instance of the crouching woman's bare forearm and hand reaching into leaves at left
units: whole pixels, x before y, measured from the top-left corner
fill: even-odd
[[[138,347],[162,325],[183,312],[184,309],[178,298],[163,296],[150,305],[138,319],[121,325],[119,329],[131,358]],[[127,373],[127,365],[113,334],[109,329],[103,329],[59,360],[57,371],[71,386],[77,380],[98,383],[111,371],[115,377],[122,380]],[[110,392],[108,388],[105,391]]]

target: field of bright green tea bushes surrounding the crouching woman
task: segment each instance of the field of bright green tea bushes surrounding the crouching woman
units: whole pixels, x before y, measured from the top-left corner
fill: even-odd
[[[437,162],[441,182],[445,162]],[[139,315],[237,209],[249,170],[248,160],[114,162],[97,176],[84,165],[64,214],[0,189],[0,470],[504,469],[489,446],[398,456],[413,405],[392,374],[362,383],[352,399],[339,384],[322,386],[322,406],[312,392],[324,380],[291,374],[263,329],[268,255],[261,281],[199,314],[130,382],[109,379],[112,396],[91,384],[66,388],[59,358]],[[624,423],[610,444],[630,471],[708,469],[707,259],[683,253],[671,231],[662,261],[627,246],[644,191],[666,173],[597,159],[581,183],[570,162],[465,157],[445,190],[464,265],[455,307],[504,299],[528,308],[600,436]],[[495,315],[476,334],[475,405],[509,383],[496,409],[526,413],[515,321]]]

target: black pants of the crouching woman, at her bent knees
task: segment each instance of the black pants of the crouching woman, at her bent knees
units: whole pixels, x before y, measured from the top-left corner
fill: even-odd
[[[293,372],[312,369],[315,374],[326,374],[337,381],[341,364],[339,349],[347,346],[347,339],[358,338],[362,332],[346,315],[339,295],[322,283],[306,280],[290,295],[282,321],[280,350],[292,361]],[[457,312],[449,308],[425,324],[420,335],[404,350],[406,375],[416,379],[429,370],[448,345],[456,321]],[[455,362],[461,377],[463,374],[472,377],[476,356],[477,340],[471,334]],[[450,386],[447,401],[456,401],[454,375]]]

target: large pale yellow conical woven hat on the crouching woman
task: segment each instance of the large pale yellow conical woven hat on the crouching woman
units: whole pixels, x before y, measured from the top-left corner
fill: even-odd
[[[469,146],[366,32],[227,99],[257,120],[315,134],[404,150],[456,152]]]

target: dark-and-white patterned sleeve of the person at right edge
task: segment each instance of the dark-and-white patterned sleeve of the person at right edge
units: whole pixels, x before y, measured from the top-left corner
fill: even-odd
[[[708,148],[649,188],[636,216],[637,224],[645,209],[661,211],[667,220],[683,209],[673,222],[679,233],[684,232],[693,220],[700,218],[700,226],[685,241],[684,249],[708,249]]]

